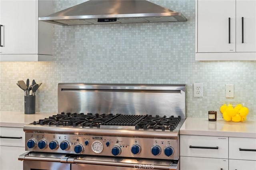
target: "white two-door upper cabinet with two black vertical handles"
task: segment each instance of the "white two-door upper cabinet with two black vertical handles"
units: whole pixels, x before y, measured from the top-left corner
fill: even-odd
[[[256,60],[256,0],[197,0],[196,60]]]

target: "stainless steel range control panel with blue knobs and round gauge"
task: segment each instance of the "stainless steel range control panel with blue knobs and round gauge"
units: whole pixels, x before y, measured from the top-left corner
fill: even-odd
[[[179,140],[26,133],[26,150],[123,156],[134,158],[179,159]]]

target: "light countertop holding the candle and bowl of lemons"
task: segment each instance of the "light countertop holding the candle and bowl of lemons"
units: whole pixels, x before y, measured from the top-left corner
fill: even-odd
[[[180,134],[256,138],[256,120],[227,122],[217,119],[211,122],[208,118],[188,117],[180,128]]]

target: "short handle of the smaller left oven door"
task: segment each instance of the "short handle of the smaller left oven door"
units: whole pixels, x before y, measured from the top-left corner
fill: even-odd
[[[69,157],[62,157],[62,158],[50,158],[50,157],[36,157],[36,156],[29,156],[30,152],[25,152],[18,157],[18,160],[34,160],[34,161],[46,161],[46,162],[62,162],[66,163]]]

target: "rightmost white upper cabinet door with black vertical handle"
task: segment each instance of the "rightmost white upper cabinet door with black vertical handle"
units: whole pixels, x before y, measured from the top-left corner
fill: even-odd
[[[242,24],[243,17],[243,24]],[[242,32],[243,26],[243,32]],[[242,42],[243,35],[243,42]],[[236,52],[256,51],[256,0],[236,0]]]

